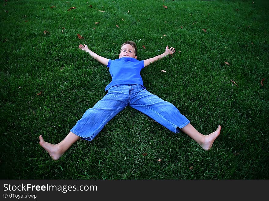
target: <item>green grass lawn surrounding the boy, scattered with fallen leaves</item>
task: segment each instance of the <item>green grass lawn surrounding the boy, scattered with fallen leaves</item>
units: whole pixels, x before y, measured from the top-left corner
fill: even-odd
[[[269,179],[268,9],[265,0],[2,1],[0,178]],[[139,60],[175,47],[142,70],[145,87],[204,134],[222,125],[221,135],[203,151],[127,107],[51,160],[39,135],[60,142],[111,81],[79,44],[116,59],[126,40]]]

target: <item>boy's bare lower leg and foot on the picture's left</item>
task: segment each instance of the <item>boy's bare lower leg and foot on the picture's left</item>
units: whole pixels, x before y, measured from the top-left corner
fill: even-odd
[[[65,151],[69,149],[69,147],[71,147],[73,143],[75,143],[79,139],[79,136],[72,132],[69,132],[63,141],[58,144],[51,144],[45,142],[42,135],[40,135],[39,144],[50,154],[50,157],[56,161],[64,154]]]

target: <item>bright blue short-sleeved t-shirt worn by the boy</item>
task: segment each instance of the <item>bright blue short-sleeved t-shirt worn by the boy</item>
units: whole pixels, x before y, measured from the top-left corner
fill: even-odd
[[[119,84],[140,84],[143,86],[140,71],[144,68],[144,61],[138,61],[130,57],[122,57],[115,60],[109,59],[107,67],[109,67],[112,80],[105,87],[105,91]],[[144,88],[146,89],[146,87]]]

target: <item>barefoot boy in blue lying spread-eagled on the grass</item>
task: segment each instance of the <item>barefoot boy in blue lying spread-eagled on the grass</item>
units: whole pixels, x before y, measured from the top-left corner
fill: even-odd
[[[143,86],[140,76],[141,69],[167,55],[174,54],[175,48],[167,46],[163,54],[144,61],[136,59],[137,47],[132,41],[122,44],[119,59],[115,60],[99,56],[85,44],[84,46],[80,44],[79,49],[109,67],[112,81],[105,87],[108,93],[83,114],[64,140],[58,144],[51,144],[45,142],[42,135],[39,136],[39,144],[53,160],[58,160],[80,138],[93,140],[107,122],[126,106],[141,111],[174,133],[180,131],[186,133],[206,151],[212,147],[220,134],[220,125],[215,132],[209,135],[201,134],[173,104],[151,94]]]

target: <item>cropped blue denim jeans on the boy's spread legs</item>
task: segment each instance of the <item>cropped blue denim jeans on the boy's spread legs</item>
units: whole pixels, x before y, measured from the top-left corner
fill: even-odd
[[[179,133],[179,128],[190,123],[172,103],[151,94],[140,84],[122,84],[109,88],[108,93],[88,109],[70,131],[91,141],[126,106],[148,115],[174,133]]]

